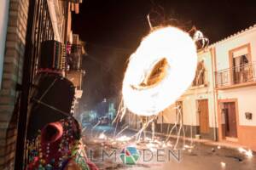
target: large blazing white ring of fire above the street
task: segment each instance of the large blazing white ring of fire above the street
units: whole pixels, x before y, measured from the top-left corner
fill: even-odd
[[[188,33],[172,26],[155,29],[131,54],[122,89],[125,107],[137,115],[157,115],[189,88],[196,63]]]

